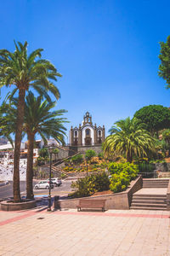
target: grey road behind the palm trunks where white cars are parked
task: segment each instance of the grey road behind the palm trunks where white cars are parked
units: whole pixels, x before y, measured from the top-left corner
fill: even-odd
[[[34,185],[37,182],[34,181]],[[21,195],[26,195],[26,181],[20,182]],[[52,195],[68,195],[71,193],[71,181],[63,181],[59,187],[51,189]],[[48,195],[48,189],[34,189],[34,195]],[[13,182],[9,182],[8,185],[0,187],[0,200],[13,196]]]

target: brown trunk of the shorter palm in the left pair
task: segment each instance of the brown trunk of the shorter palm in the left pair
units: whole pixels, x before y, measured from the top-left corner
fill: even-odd
[[[28,133],[28,152],[27,152],[27,167],[26,167],[26,198],[33,199],[33,150],[34,150],[34,134]]]

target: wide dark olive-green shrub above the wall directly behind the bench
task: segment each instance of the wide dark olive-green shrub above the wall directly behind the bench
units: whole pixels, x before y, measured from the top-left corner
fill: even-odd
[[[84,197],[93,195],[95,192],[108,190],[110,180],[105,172],[99,174],[92,174],[87,177],[82,177],[77,182],[72,183],[71,187],[76,188],[77,191],[70,195],[71,198]]]

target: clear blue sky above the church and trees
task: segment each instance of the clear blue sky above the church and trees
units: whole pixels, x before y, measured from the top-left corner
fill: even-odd
[[[6,0],[0,49],[14,50],[14,39],[27,40],[29,51],[43,48],[63,75],[57,108],[68,110],[67,128],[88,110],[108,131],[143,106],[170,106],[170,90],[157,75],[169,9],[164,0]]]

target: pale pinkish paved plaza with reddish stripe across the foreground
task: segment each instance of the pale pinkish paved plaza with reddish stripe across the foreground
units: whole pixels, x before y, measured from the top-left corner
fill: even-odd
[[[0,255],[170,255],[170,212],[0,212]]]

